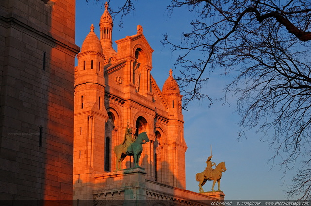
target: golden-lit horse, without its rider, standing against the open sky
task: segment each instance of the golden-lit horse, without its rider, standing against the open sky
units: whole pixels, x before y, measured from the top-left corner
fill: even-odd
[[[206,171],[203,171],[202,173],[197,173],[195,175],[196,181],[199,182],[199,192],[204,192],[202,186],[206,183],[206,181],[214,181],[212,186],[212,191],[214,190],[215,183],[217,181],[218,183],[218,191],[222,191],[219,188],[220,185],[220,179],[222,178],[222,172],[225,172],[227,168],[225,167],[225,162],[219,163],[216,168],[211,172],[211,175],[209,177],[204,176]]]

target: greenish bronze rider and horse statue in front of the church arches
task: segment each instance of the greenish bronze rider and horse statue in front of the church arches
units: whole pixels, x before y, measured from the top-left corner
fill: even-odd
[[[139,158],[142,153],[142,144],[149,142],[149,139],[146,132],[140,133],[137,137],[132,135],[132,128],[128,128],[127,123],[123,143],[113,148],[113,151],[117,157],[116,170],[121,170],[121,163],[128,155],[133,156],[134,167],[139,167]]]

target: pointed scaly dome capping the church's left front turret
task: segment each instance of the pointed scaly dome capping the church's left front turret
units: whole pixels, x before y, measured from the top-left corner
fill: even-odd
[[[97,51],[103,53],[101,42],[99,41],[97,35],[94,33],[93,24],[91,26],[91,32],[89,32],[82,43],[81,52],[85,51]]]

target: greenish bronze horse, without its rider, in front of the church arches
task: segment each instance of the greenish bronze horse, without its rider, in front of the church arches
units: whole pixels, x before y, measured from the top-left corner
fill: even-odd
[[[113,148],[116,154],[116,170],[121,170],[121,163],[126,156],[130,155],[134,158],[134,167],[139,167],[139,158],[142,153],[142,144],[149,142],[146,132],[140,133],[135,141],[131,143],[128,147],[124,144],[117,145]]]

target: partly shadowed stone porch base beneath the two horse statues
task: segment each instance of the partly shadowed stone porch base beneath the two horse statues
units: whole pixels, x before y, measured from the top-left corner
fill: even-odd
[[[210,206],[212,202],[224,200],[225,195],[219,191],[197,193],[146,178],[146,171],[141,168],[95,175],[94,199],[84,203],[94,206]]]

